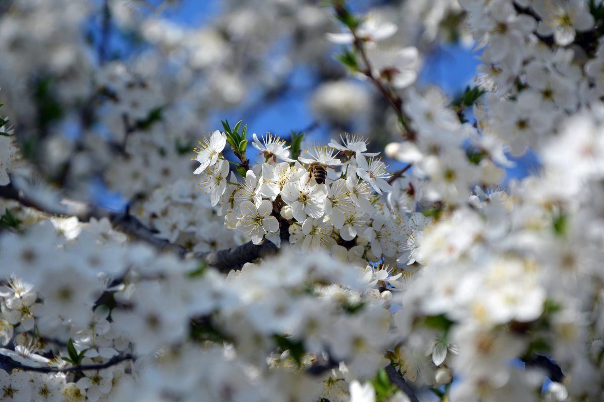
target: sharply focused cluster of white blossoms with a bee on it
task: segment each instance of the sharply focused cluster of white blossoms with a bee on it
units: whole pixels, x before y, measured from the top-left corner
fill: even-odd
[[[324,248],[344,261],[385,258],[396,265],[409,218],[381,197],[393,190],[391,173],[377,154],[367,152],[364,138],[345,134],[294,161],[285,141],[270,135],[260,141],[254,134],[253,146],[266,161],[249,167],[242,183],[234,173],[229,178],[228,161],[221,156],[225,144],[226,134],[215,131],[198,151],[201,166],[195,172],[227,227],[254,244],[266,238],[280,245],[285,226],[285,239],[298,250]]]

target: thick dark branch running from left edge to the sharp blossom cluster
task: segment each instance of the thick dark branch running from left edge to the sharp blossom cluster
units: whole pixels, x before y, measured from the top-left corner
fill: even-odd
[[[0,186],[0,198],[14,199],[26,207],[33,207],[48,215],[76,216],[82,222],[88,222],[90,218],[108,218],[109,222],[116,229],[152,245],[159,251],[172,251],[181,258],[204,259],[208,265],[217,267],[224,273],[228,273],[233,268],[240,268],[246,262],[274,254],[277,251],[277,246],[271,241],[266,240],[260,245],[254,245],[250,241],[238,247],[228,248],[227,250],[188,253],[181,245],[173,244],[166,239],[156,237],[152,230],[130,215],[128,210],[126,212],[114,212],[68,198],[49,202],[49,200],[42,200],[31,196],[23,189],[18,189],[14,186],[13,180],[6,186]]]

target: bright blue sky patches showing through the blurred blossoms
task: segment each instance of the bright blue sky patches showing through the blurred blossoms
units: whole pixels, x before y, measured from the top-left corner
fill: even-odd
[[[159,0],[150,1],[159,4]],[[363,13],[367,11],[370,2],[352,1],[353,10]],[[179,24],[197,27],[207,24],[216,15],[222,12],[223,3],[216,0],[194,1],[183,0],[176,8],[167,8],[164,10],[164,16]],[[118,45],[119,41],[114,41],[112,45]],[[334,49],[336,50],[336,49]],[[443,89],[449,96],[454,96],[467,85],[472,85],[472,79],[476,74],[476,68],[480,63],[476,59],[477,54],[472,52],[471,47],[464,47],[460,44],[442,45],[437,50],[426,56],[423,60],[423,69],[420,71],[418,83],[420,86],[436,85]],[[342,67],[343,68],[343,67]],[[269,103],[263,108],[257,108],[253,115],[250,115],[244,123],[248,124],[249,133],[264,134],[271,131],[272,134],[288,135],[291,130],[301,131],[307,128],[316,120],[315,115],[310,111],[309,99],[314,89],[313,74],[307,66],[301,65],[294,71],[292,77],[292,86],[303,88],[295,93],[295,96],[283,96],[277,102]],[[368,83],[368,90],[374,88]],[[307,89],[304,89],[307,88]],[[232,123],[242,118],[241,110],[234,109],[230,111],[221,111],[217,113],[211,121],[211,131],[221,128],[220,120],[228,118]],[[326,130],[318,128],[307,135],[306,140],[310,143],[322,141],[325,138]],[[249,148],[252,154],[254,148]],[[523,157],[515,159],[516,167],[507,170],[506,181],[510,178],[521,178],[526,175],[530,166],[537,164],[535,155],[528,152]],[[399,169],[398,164],[392,164],[391,169]],[[106,207],[121,209],[124,206],[124,199],[117,193],[109,193],[100,183],[91,185],[91,192],[94,198],[103,199]]]

